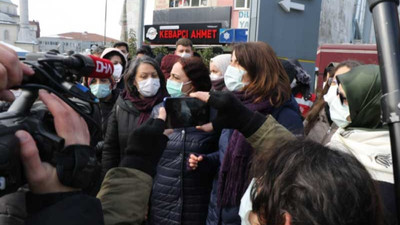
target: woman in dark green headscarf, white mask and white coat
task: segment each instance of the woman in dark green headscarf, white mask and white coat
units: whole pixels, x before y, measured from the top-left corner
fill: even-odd
[[[390,220],[396,216],[394,178],[389,131],[381,121],[380,77],[376,65],[358,66],[337,76],[337,94],[328,104],[339,129],[327,146],[354,155],[378,181]]]

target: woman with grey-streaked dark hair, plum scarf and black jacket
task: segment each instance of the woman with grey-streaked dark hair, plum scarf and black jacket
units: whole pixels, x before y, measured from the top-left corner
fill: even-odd
[[[125,77],[125,89],[119,95],[108,119],[104,138],[103,175],[124,159],[127,138],[143,124],[155,105],[167,96],[164,75],[157,62],[147,56],[134,61]]]

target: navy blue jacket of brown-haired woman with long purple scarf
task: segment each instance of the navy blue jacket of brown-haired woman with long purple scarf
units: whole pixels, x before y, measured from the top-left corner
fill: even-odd
[[[292,97],[283,106],[276,108],[271,114],[280,124],[290,130],[296,136],[303,135],[303,122],[296,100]],[[224,159],[225,151],[228,147],[233,130],[223,130],[219,140],[219,151],[217,153],[207,155],[205,164],[201,162],[198,169],[216,169],[219,167]],[[210,204],[207,215],[207,225],[240,225],[241,220],[239,217],[239,207],[225,207],[219,208],[217,206],[217,193],[218,193],[218,175],[213,181],[213,188],[211,191]]]

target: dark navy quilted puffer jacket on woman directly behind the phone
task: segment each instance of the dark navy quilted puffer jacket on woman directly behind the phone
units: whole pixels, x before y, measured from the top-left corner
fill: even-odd
[[[151,196],[150,224],[205,224],[212,179],[188,169],[190,153],[218,150],[218,135],[195,128],[175,129],[158,163]]]

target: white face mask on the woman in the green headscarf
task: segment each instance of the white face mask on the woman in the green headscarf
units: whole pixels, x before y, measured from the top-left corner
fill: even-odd
[[[350,116],[349,106],[342,104],[339,96],[336,96],[328,105],[332,121],[341,128],[347,127],[350,124],[347,120],[347,117]]]

